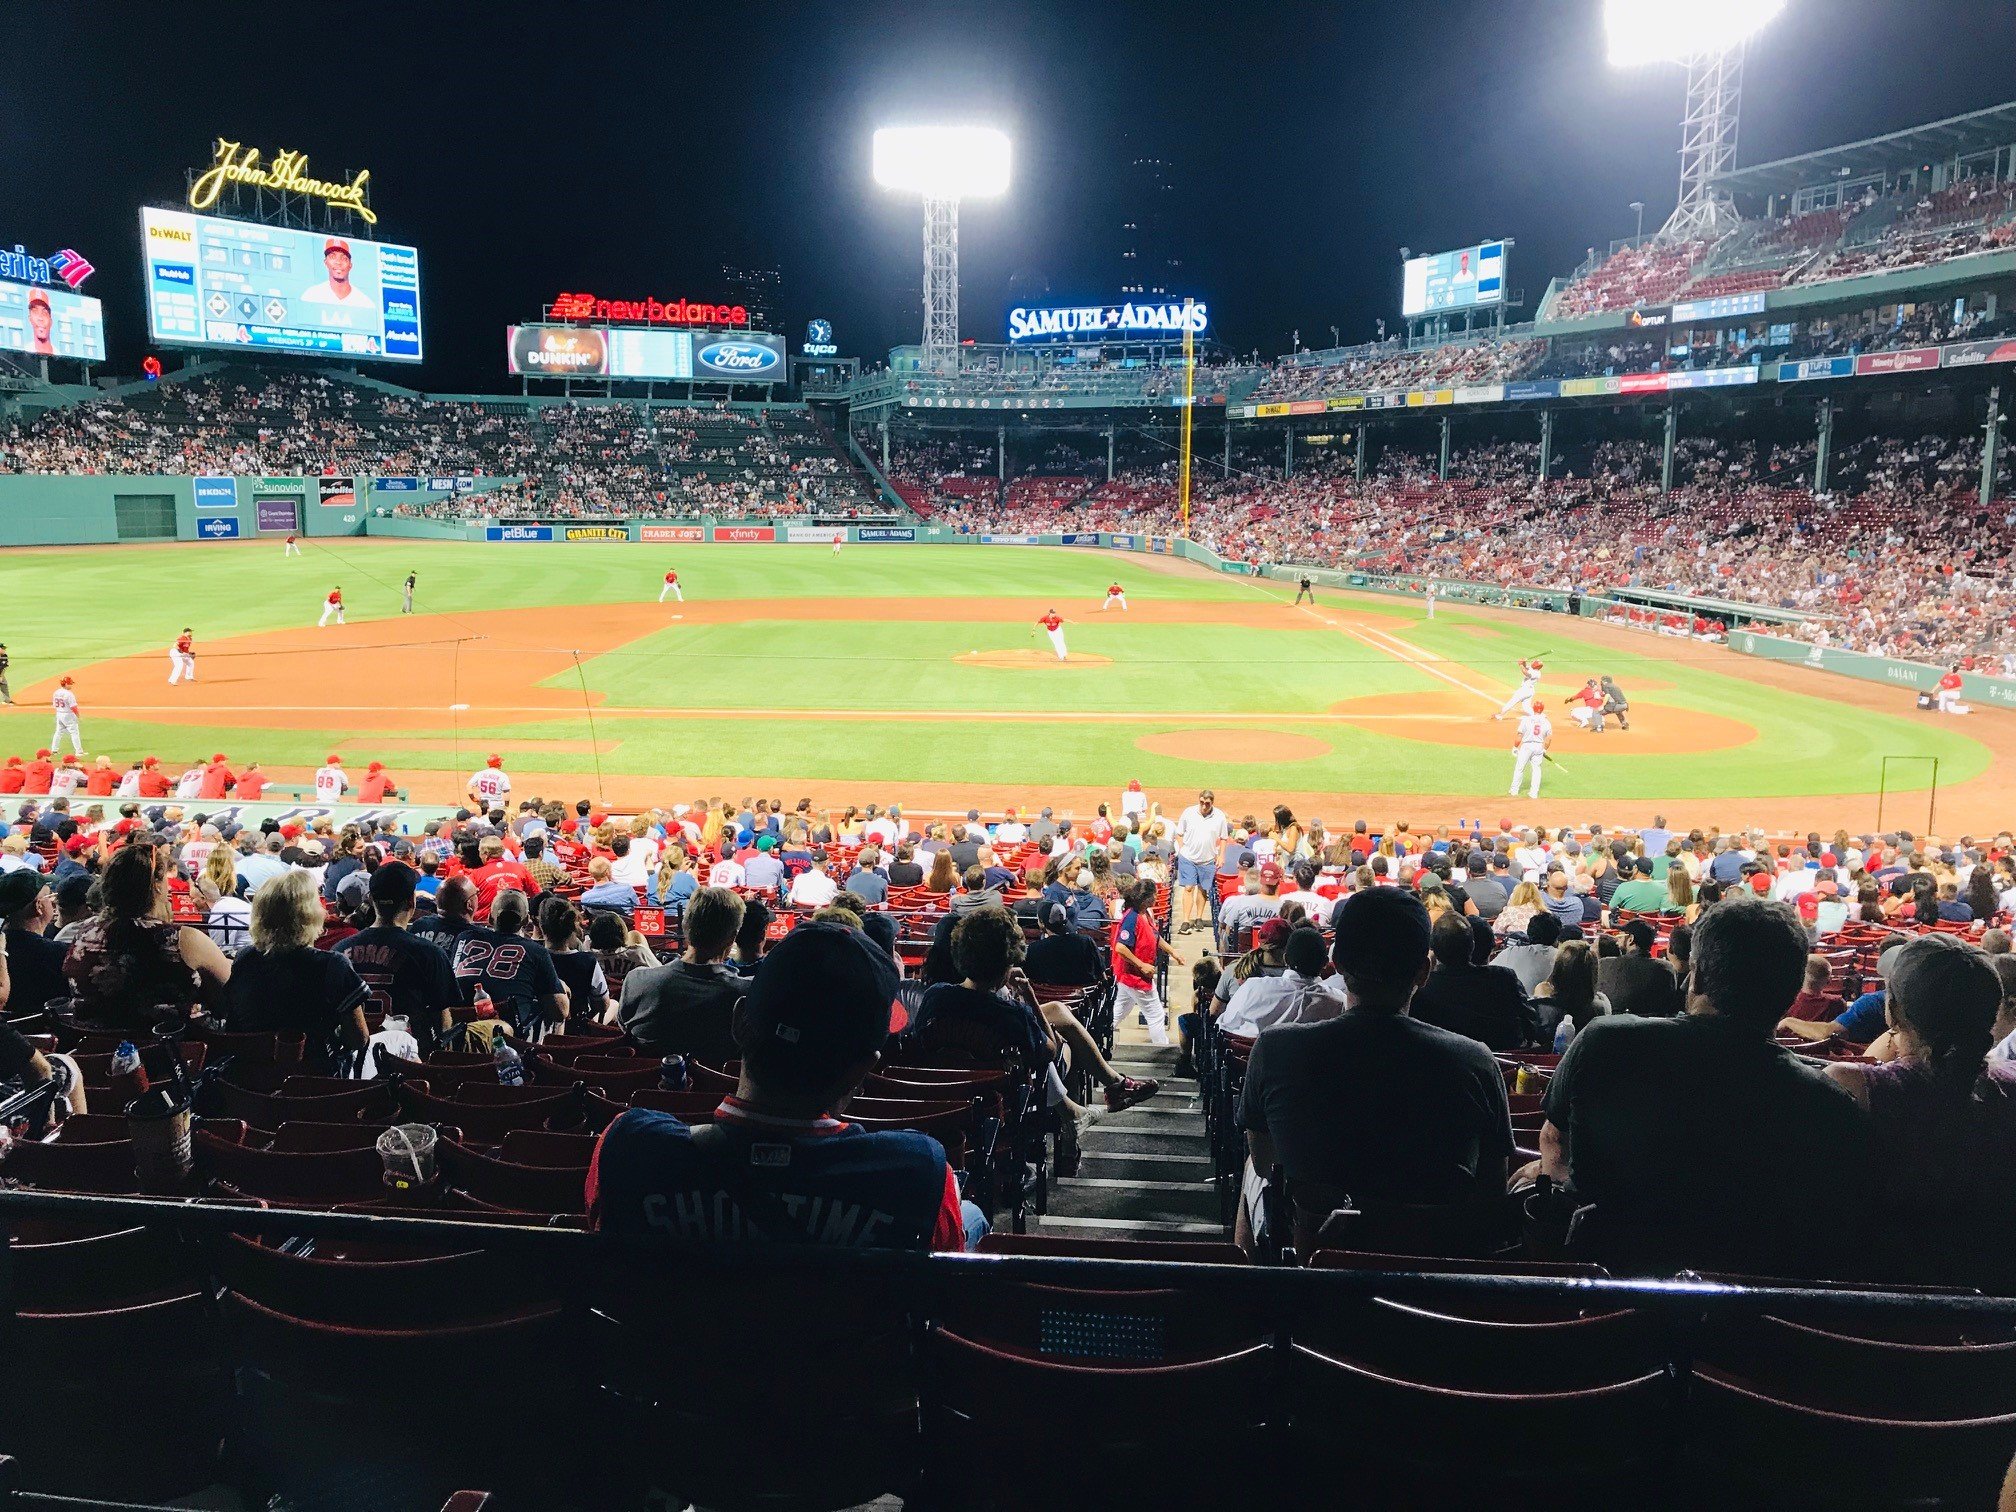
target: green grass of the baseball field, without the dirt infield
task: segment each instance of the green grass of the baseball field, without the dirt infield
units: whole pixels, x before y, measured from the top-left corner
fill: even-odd
[[[710,544],[462,544],[306,542],[306,556],[282,558],[278,544],[125,546],[8,552],[0,560],[0,639],[14,655],[16,698],[60,671],[111,657],[159,657],[181,625],[200,651],[228,651],[228,637],[312,625],[321,597],[341,583],[351,623],[397,617],[397,585],[419,573],[421,615],[649,603],[663,569],[677,566],[687,599],[1040,599],[1070,619],[1070,649],[1111,665],[1004,669],[956,661],[966,651],[1038,645],[1022,621],[808,623],[740,619],[673,621],[591,657],[579,677],[601,698],[597,740],[605,776],[738,774],[752,780],[891,784],[986,782],[1016,788],[1113,788],[1139,778],[1155,790],[1200,780],[1224,788],[1282,792],[1478,792],[1502,794],[1510,754],[1502,746],[1407,740],[1379,724],[1322,720],[1341,700],[1373,694],[1450,694],[1421,667],[1385,655],[1312,619],[1280,629],[1248,625],[1147,625],[1099,615],[1117,575],[1135,605],[1266,603],[1278,585],[1165,571],[1155,558],[1034,546],[827,546]],[[1570,772],[1550,772],[1548,798],[1679,800],[1722,796],[1859,794],[1877,786],[1881,754],[1937,756],[1941,786],[1980,776],[1992,754],[1951,726],[1875,714],[1831,700],[1839,679],[1814,673],[1810,694],[1782,691],[1734,675],[1734,657],[1645,639],[1643,649],[1591,649],[1572,621],[1534,615],[1506,625],[1443,605],[1431,625],[1411,601],[1325,595],[1325,607],[1355,619],[1389,621],[1407,643],[1480,687],[1510,687],[1512,663],[1542,653],[1548,691],[1568,675],[1613,673],[1633,706],[1702,710],[1754,726],[1754,740],[1695,754],[1633,754],[1629,738],[1599,754],[1577,752]],[[439,627],[435,625],[435,633]],[[508,655],[484,649],[482,655]],[[395,657],[375,651],[373,657]],[[371,667],[347,659],[304,665],[296,704],[359,704]],[[333,677],[347,679],[345,685]],[[1653,683],[1663,683],[1653,687]],[[577,685],[575,673],[552,685]],[[1645,691],[1639,691],[1639,687]],[[585,742],[585,716],[554,714],[504,722],[482,708],[435,730],[375,730],[369,716],[333,714],[325,726],[282,728],[258,710],[212,726],[159,724],[95,714],[83,685],[85,734],[93,752],[119,760],[157,752],[171,764],[196,752],[228,750],[268,766],[314,766],[331,748],[355,764],[383,758],[401,774],[466,772],[468,756],[500,748],[516,774],[569,776],[593,770],[587,750],[512,752],[512,742]],[[171,698],[161,689],[163,702]],[[1558,694],[1556,694],[1558,696]],[[442,689],[442,708],[450,702]],[[750,710],[706,720],[657,718],[623,710]],[[1486,706],[1474,700],[1478,714]],[[778,710],[861,710],[907,714],[891,720],[778,720]],[[1167,714],[1167,720],[1075,718],[1056,726],[960,720],[960,712],[1038,710],[1073,716]],[[915,716],[939,718],[915,718]],[[1566,722],[1566,710],[1556,710]],[[1246,716],[1238,722],[1214,716]],[[1274,716],[1258,722],[1252,716]],[[1325,756],[1210,764],[1149,754],[1147,736],[1214,728],[1312,736]],[[46,704],[0,712],[0,754],[48,740]],[[425,744],[415,744],[415,738]],[[444,738],[468,752],[444,748]],[[1510,744],[1510,738],[1504,742]],[[462,772],[456,772],[458,776]],[[1893,786],[1895,782],[1893,772]]]

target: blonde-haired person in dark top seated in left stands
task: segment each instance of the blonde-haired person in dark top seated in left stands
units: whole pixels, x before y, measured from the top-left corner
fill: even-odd
[[[304,871],[274,877],[252,899],[252,946],[232,962],[224,1026],[232,1034],[306,1036],[302,1066],[331,1075],[371,1038],[369,988],[349,956],[317,950],[329,915]]]

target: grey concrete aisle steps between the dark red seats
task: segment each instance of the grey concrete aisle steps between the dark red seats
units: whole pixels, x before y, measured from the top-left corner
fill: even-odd
[[[1081,1135],[1079,1173],[1052,1177],[1038,1234],[1101,1240],[1220,1240],[1218,1193],[1198,1083],[1175,1081],[1175,1050],[1123,1026],[1113,1064],[1161,1083],[1147,1103],[1105,1113]]]

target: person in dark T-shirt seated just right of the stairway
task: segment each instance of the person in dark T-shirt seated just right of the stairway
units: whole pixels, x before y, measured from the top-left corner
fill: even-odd
[[[1256,1175],[1274,1165],[1312,1238],[1345,1198],[1361,1204],[1474,1206],[1504,1195],[1512,1113],[1492,1052],[1409,1016],[1427,980],[1429,921],[1407,887],[1347,897],[1331,964],[1347,1010],[1320,1024],[1260,1032],[1240,1099],[1252,1159],[1240,1242],[1250,1242]],[[1286,1238],[1286,1236],[1282,1236]]]

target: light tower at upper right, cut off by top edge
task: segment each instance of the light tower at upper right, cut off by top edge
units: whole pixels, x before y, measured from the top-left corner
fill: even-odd
[[[1744,46],[1786,0],[1603,0],[1611,67],[1679,62],[1687,71],[1687,115],[1679,123],[1679,204],[1659,238],[1714,238],[1740,216],[1714,185],[1736,165],[1736,117],[1744,93]]]

